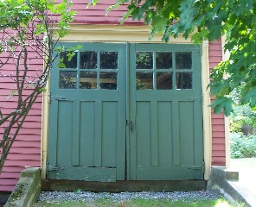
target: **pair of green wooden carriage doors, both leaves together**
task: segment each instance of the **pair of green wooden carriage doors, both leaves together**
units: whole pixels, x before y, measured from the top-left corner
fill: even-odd
[[[199,47],[82,46],[51,74],[48,179],[203,179]]]

